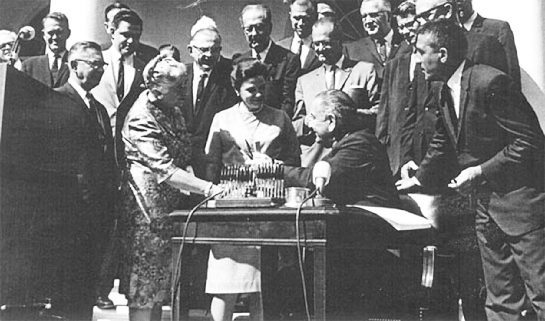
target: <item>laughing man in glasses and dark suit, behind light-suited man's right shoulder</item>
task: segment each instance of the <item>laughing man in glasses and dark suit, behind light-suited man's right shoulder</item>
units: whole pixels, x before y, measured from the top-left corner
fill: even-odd
[[[349,59],[370,62],[382,78],[388,60],[410,51],[403,38],[390,26],[390,0],[364,0],[360,6],[361,23],[367,37],[345,45]]]

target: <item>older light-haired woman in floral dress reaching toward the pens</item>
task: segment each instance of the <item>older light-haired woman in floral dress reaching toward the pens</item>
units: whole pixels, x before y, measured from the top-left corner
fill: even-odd
[[[173,227],[168,213],[183,208],[186,192],[213,195],[221,188],[196,178],[180,108],[185,66],[158,56],[143,72],[147,90],[131,107],[122,130],[126,169],[120,213],[124,237],[123,289],[130,320],[160,320],[170,299]]]

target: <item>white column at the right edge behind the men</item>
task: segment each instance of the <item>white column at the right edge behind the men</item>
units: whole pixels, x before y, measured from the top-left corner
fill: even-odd
[[[509,22],[517,45],[522,91],[545,128],[545,33],[542,0],[473,0],[483,17]]]

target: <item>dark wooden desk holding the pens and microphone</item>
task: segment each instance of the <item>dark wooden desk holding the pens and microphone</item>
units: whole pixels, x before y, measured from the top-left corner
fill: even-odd
[[[185,244],[296,246],[293,208],[199,209],[192,217]],[[180,236],[173,238],[174,263],[181,244],[187,210],[170,216],[179,225]],[[314,251],[314,319],[326,319],[326,290],[331,286],[326,271],[331,262],[328,251],[338,248],[396,249],[423,247],[431,242],[431,229],[398,232],[376,214],[344,207],[303,208],[300,220],[301,245]],[[182,261],[183,262],[183,261]],[[183,269],[182,269],[183,272]],[[181,287],[180,287],[181,288]],[[183,297],[178,293],[178,298]],[[184,300],[177,301],[175,317],[188,311]]]

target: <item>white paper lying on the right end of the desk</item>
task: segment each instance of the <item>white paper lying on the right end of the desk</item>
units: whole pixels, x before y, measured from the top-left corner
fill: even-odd
[[[383,220],[390,223],[397,231],[410,231],[413,229],[426,229],[432,227],[432,222],[426,219],[426,217],[418,216],[402,209],[365,205],[346,206],[364,209],[377,214],[382,217]]]

